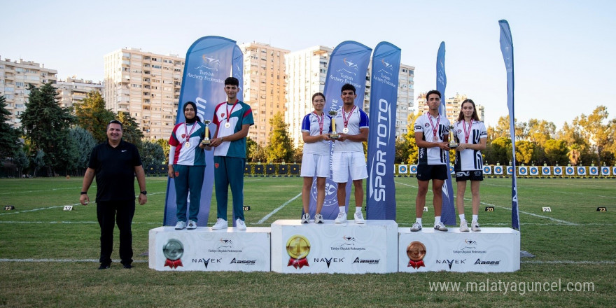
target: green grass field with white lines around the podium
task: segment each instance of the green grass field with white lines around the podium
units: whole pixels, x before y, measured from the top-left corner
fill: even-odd
[[[147,178],[148,204],[133,222],[133,269],[97,270],[95,204],[78,205],[81,178],[0,179],[0,307],[615,307],[616,179],[519,179],[522,258],[514,273],[278,274],[157,272],[148,268],[148,230],[162,225],[166,178]],[[397,221],[414,221],[416,179],[395,178]],[[246,225],[299,219],[302,179],[246,178]],[[511,180],[482,183],[479,223],[510,227]],[[91,188],[90,197],[94,197]],[[470,198],[470,191],[467,191]],[[293,200],[295,198],[295,200]],[[293,200],[293,201],[290,201]],[[214,204],[214,200],[213,204]],[[351,204],[353,200],[351,200]],[[431,204],[428,194],[427,204]],[[286,204],[265,222],[274,209]],[[466,202],[470,216],[470,200]],[[63,211],[74,205],[73,211]],[[495,208],[485,212],[486,206]],[[542,207],[551,207],[543,212]],[[597,212],[607,207],[607,212]],[[210,212],[209,225],[216,209]],[[424,215],[431,222],[433,211]],[[425,225],[426,223],[424,223]],[[428,223],[429,224],[429,223]],[[202,225],[202,224],[201,224]],[[610,274],[612,273],[612,274]],[[556,283],[560,291],[433,290],[430,283]],[[594,290],[568,291],[568,283]],[[493,286],[493,285],[492,285]]]

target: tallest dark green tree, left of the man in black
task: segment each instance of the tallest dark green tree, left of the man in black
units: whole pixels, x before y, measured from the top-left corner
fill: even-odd
[[[54,169],[64,167],[63,164],[71,156],[66,139],[69,127],[75,121],[70,109],[62,108],[55,100],[55,88],[51,83],[45,83],[41,88],[29,85],[29,102],[26,111],[21,114],[22,130],[31,141],[33,151],[45,153],[44,165]]]

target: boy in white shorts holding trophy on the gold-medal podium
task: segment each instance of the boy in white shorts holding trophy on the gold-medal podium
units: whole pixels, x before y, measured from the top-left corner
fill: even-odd
[[[355,87],[346,83],[342,86],[342,107],[335,116],[339,138],[335,140],[332,154],[332,180],[338,183],[338,217],[335,223],[346,223],[346,182],[349,172],[355,188],[355,223],[365,223],[361,214],[363,204],[363,179],[368,177],[363,141],[368,140],[367,114],[355,106]]]

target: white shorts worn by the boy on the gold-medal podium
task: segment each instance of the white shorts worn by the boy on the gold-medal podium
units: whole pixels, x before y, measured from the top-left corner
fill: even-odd
[[[334,152],[332,154],[332,180],[346,183],[351,180],[367,179],[365,156],[363,152]]]

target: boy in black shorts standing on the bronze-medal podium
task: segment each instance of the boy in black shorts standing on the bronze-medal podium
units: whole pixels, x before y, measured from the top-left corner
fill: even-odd
[[[442,186],[447,179],[449,162],[449,120],[439,114],[441,94],[437,90],[431,90],[426,95],[428,112],[415,120],[415,142],[419,148],[419,164],[417,166],[417,197],[415,199],[416,221],[411,231],[421,230],[421,216],[423,207],[426,206],[426,194],[428,183],[432,180],[432,192],[434,194],[434,229],[447,231],[447,227],[440,221],[442,211]]]

